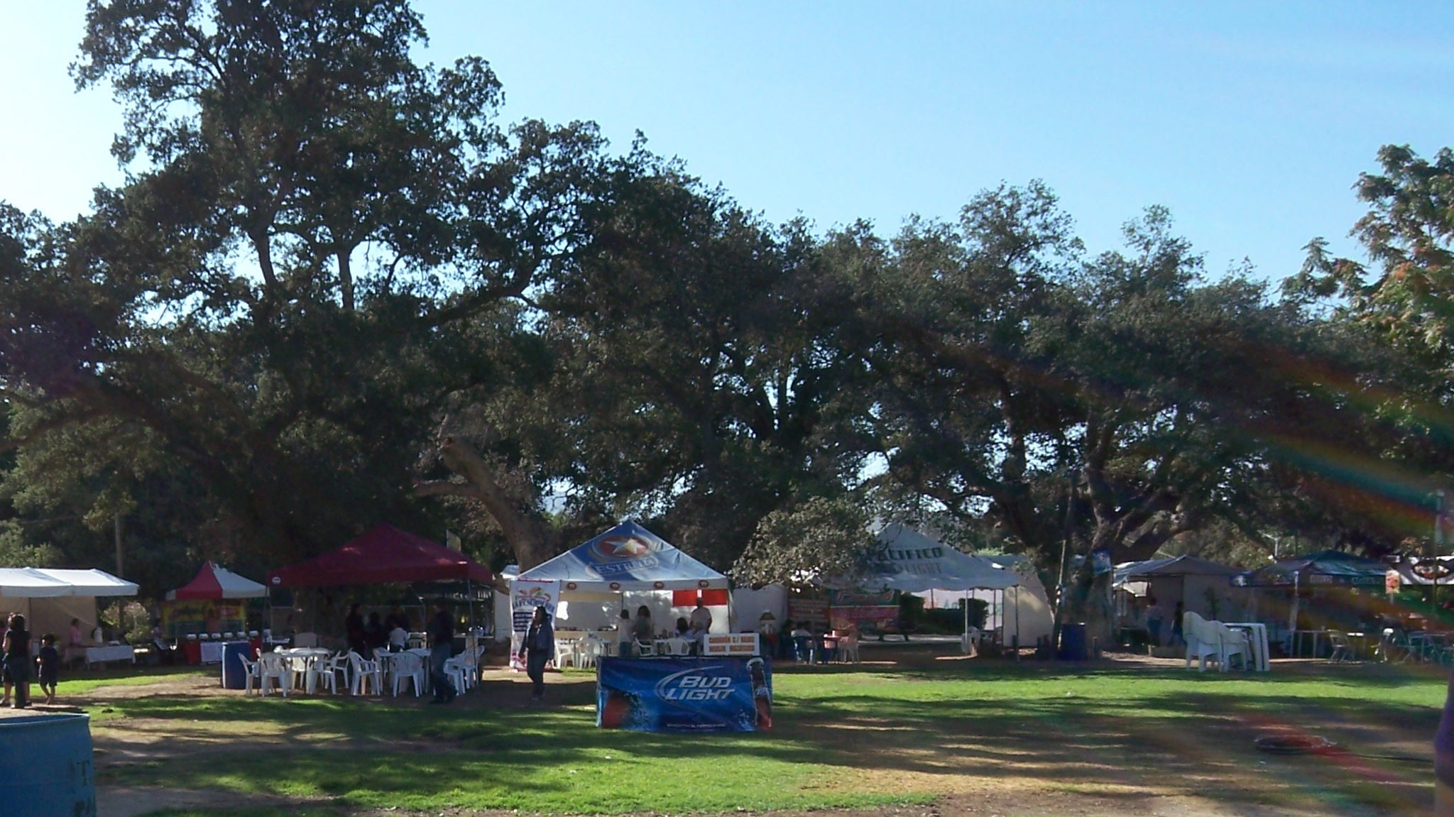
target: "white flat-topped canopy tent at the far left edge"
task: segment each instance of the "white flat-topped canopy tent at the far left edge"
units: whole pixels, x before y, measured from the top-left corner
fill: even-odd
[[[23,615],[32,635],[49,632],[60,644],[65,644],[71,619],[80,619],[83,634],[96,627],[97,596],[135,595],[135,581],[105,570],[0,568],[0,613]]]

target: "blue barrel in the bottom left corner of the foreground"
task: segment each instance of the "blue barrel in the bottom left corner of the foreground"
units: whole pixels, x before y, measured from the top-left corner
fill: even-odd
[[[96,817],[89,715],[0,718],[0,814]]]

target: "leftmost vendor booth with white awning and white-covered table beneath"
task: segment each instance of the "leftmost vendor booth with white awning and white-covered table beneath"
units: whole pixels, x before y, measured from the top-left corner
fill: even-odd
[[[57,648],[67,661],[135,663],[137,654],[129,644],[96,637],[96,599],[135,595],[135,581],[116,579],[105,570],[0,568],[0,613],[23,615],[36,641],[47,632],[55,635]],[[73,619],[79,622],[80,644],[70,643]],[[35,654],[35,650],[31,653]]]

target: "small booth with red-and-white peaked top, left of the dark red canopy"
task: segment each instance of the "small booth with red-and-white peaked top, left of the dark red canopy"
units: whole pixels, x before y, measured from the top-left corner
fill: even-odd
[[[247,641],[257,650],[262,637],[246,628],[246,603],[266,595],[262,583],[205,563],[185,586],[167,590],[161,632],[176,641],[189,664],[221,663],[227,643]]]

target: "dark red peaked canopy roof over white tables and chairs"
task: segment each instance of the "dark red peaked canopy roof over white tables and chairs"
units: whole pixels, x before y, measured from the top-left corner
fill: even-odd
[[[490,568],[459,551],[379,525],[323,555],[268,574],[275,587],[317,584],[387,584],[393,581],[484,581]]]

